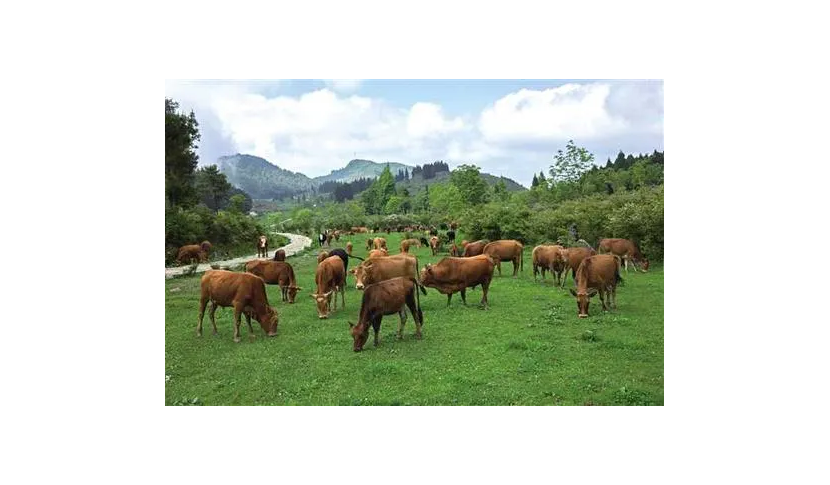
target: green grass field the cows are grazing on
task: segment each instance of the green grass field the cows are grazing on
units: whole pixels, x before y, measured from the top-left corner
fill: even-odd
[[[370,235],[371,236],[371,235]],[[386,237],[398,252],[401,234]],[[461,241],[459,234],[458,241]],[[350,236],[365,256],[367,235]],[[345,246],[341,238],[335,246]],[[314,301],[317,248],[289,258],[303,289],[297,303],[283,303],[279,287],[268,298],[280,315],[278,336],[265,337],[253,321],[251,341],[244,319],[235,344],[233,311],[218,310],[219,336],[195,329],[201,275],[165,281],[165,403],[203,405],[663,405],[663,267],[648,273],[623,271],[618,309],[603,313],[599,297],[590,317],[577,318],[576,300],[547,280],[533,281],[525,247],[524,272],[512,264],[490,286],[490,309],[482,310],[481,288],[459,294],[446,307],[434,289],[421,295],[423,340],[407,312],[404,339],[399,318],[384,317],[379,347],[370,338],[352,351],[348,321],[357,322],[362,292],[348,277],[346,310],[319,320]],[[437,262],[429,248],[415,249],[419,267]],[[349,268],[360,261],[351,260]],[[572,287],[573,281],[568,279]]]

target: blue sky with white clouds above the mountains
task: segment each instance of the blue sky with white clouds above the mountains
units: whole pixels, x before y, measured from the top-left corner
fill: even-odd
[[[663,150],[661,80],[170,80],[200,163],[249,153],[318,176],[356,154],[474,163],[529,186],[569,139],[597,163]]]

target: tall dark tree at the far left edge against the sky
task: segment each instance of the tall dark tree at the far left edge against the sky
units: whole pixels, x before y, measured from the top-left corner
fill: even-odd
[[[185,115],[178,109],[178,103],[164,98],[164,193],[172,206],[187,208],[198,200],[194,172],[199,163],[199,123],[193,111]]]

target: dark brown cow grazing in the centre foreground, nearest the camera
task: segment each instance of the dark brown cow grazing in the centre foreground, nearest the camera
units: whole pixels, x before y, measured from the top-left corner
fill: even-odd
[[[369,339],[369,326],[375,330],[375,347],[378,346],[378,333],[384,315],[397,313],[401,317],[398,327],[398,339],[403,339],[403,326],[406,323],[406,309],[409,307],[412,318],[415,319],[415,338],[420,339],[421,327],[424,324],[424,313],[421,311],[421,299],[418,290],[425,295],[427,290],[418,284],[412,277],[392,278],[380,283],[369,285],[363,292],[363,301],[360,304],[360,317],[357,325],[349,322],[349,329],[354,339],[354,351],[360,352]]]

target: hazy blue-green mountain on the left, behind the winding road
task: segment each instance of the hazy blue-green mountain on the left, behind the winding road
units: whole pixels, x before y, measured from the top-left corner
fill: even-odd
[[[284,170],[253,155],[237,153],[219,157],[216,165],[228,177],[231,185],[244,190],[254,199],[290,197],[317,186],[317,183],[301,173]]]

